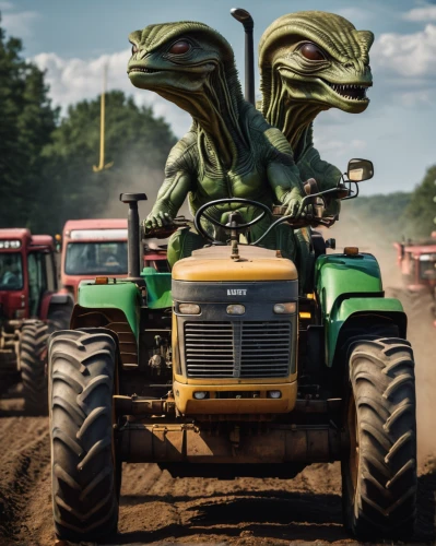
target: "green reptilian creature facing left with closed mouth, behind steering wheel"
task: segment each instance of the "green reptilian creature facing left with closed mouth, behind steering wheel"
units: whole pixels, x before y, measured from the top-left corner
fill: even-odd
[[[235,197],[269,206],[280,202],[287,205],[287,214],[296,214],[303,195],[291,147],[244,99],[229,44],[198,22],[150,25],[131,33],[129,40],[132,84],[175,103],[193,120],[168,156],[165,181],[145,227],[170,223],[188,194],[193,213],[212,200]],[[235,207],[245,221],[259,212]],[[228,212],[228,204],[209,210],[224,223]],[[266,218],[254,226],[252,237],[269,224]],[[168,260],[174,263],[203,245],[199,235],[178,230],[169,241]],[[278,228],[266,246],[295,258],[294,236],[287,226]]]

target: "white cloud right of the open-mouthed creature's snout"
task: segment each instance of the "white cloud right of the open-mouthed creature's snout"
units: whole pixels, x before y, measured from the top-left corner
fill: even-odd
[[[436,25],[414,34],[381,34],[370,52],[372,63],[386,74],[404,79],[436,76]]]

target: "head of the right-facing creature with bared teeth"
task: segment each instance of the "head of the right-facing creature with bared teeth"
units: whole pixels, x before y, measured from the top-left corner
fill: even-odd
[[[284,108],[304,102],[319,110],[365,110],[373,40],[373,33],[333,13],[303,11],[274,21],[259,44],[263,115],[273,118],[281,102]]]

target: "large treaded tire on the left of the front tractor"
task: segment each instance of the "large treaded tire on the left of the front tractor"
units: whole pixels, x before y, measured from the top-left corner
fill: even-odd
[[[115,366],[116,343],[105,331],[67,330],[50,337],[52,502],[61,539],[95,541],[117,531]]]

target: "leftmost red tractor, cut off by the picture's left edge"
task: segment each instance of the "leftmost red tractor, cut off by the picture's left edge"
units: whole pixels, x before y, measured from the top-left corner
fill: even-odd
[[[69,327],[72,307],[57,293],[52,237],[0,229],[0,388],[21,379],[27,413],[47,413],[46,342]]]

